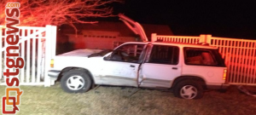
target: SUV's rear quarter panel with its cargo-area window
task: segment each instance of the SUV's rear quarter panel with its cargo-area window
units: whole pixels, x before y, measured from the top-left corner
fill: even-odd
[[[184,48],[183,76],[196,76],[206,80],[207,85],[220,85],[223,79],[224,60],[218,49]]]

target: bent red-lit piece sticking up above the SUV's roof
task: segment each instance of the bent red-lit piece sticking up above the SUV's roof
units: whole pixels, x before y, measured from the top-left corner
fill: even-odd
[[[148,37],[144,32],[143,26],[141,26],[136,21],[126,17],[124,14],[119,14],[119,20],[124,21],[125,25],[128,26],[132,32],[139,35],[143,39],[143,42],[148,42]]]

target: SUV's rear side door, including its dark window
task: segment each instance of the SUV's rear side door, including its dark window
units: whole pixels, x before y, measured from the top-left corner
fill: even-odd
[[[140,86],[170,88],[172,80],[181,75],[180,49],[170,45],[151,45],[149,50],[140,72]]]

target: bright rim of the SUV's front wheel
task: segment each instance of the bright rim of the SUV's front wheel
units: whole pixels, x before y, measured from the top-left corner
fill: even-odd
[[[72,76],[67,79],[67,88],[72,90],[79,90],[84,87],[84,78],[81,76]]]

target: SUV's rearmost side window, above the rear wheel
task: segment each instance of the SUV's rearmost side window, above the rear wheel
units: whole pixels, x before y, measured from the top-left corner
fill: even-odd
[[[186,65],[198,66],[218,66],[217,56],[214,49],[184,48],[184,58]]]

